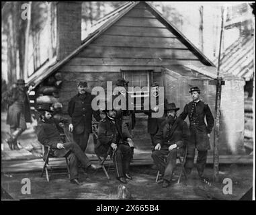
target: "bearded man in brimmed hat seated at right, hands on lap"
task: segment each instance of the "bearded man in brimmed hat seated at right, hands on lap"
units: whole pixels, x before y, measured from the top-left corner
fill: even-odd
[[[177,110],[175,103],[167,104],[167,118],[162,122],[161,127],[155,135],[155,150],[152,158],[157,169],[163,175],[162,187],[168,187],[171,183],[173,169],[176,165],[177,149],[183,153],[183,146],[187,145],[189,140],[189,128],[187,123],[177,118]],[[167,163],[165,163],[165,155],[167,155]]]

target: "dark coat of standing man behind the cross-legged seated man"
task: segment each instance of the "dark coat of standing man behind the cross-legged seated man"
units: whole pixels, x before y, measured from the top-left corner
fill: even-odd
[[[71,122],[74,126],[74,134],[81,134],[83,132],[92,132],[91,120],[94,116],[95,120],[101,120],[99,111],[94,111],[91,107],[91,101],[95,96],[86,92],[83,98],[80,93],[75,95],[69,101],[68,114],[71,117]]]

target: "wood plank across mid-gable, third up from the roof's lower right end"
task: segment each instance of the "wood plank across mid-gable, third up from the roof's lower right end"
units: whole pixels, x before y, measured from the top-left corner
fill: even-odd
[[[102,35],[91,44],[98,46],[132,46],[142,48],[184,48],[177,38],[145,38],[136,36]]]

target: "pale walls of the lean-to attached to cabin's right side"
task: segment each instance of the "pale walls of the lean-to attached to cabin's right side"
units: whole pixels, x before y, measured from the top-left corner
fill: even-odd
[[[191,101],[189,88],[198,86],[201,89],[201,99],[208,103],[215,118],[216,86],[210,84],[210,80],[191,79],[190,77],[177,76],[171,72],[165,72],[167,92],[165,94],[169,102],[175,102],[180,107],[178,115],[183,111],[186,103]],[[221,118],[220,118],[220,155],[243,155],[244,132],[244,103],[243,81],[226,80],[222,86]],[[185,120],[189,124],[189,120]],[[211,150],[214,148],[214,130],[210,134]]]

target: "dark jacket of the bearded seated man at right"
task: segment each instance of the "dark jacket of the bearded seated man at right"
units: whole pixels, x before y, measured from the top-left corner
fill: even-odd
[[[175,130],[171,134],[173,126],[175,126]],[[155,135],[155,143],[160,143],[163,150],[169,148],[172,144],[183,147],[187,145],[187,142],[189,142],[189,128],[181,118],[177,118],[177,120],[166,118]]]

